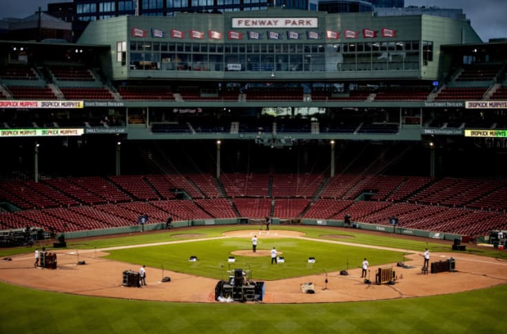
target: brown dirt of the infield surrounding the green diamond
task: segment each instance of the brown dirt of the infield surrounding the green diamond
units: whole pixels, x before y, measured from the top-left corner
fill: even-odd
[[[225,233],[220,238],[304,238],[303,233],[271,229],[268,231],[242,230]],[[346,238],[340,240],[321,240],[347,244]],[[189,240],[188,242],[194,242]],[[182,241],[178,241],[182,242]],[[164,242],[170,243],[170,242]],[[357,247],[374,247],[353,244]],[[139,245],[144,247],[146,245]],[[121,248],[121,247],[118,247]],[[384,247],[382,247],[385,249]],[[112,249],[112,248],[108,248]],[[338,271],[327,275],[309,275],[284,280],[265,281],[265,303],[301,303],[301,302],[349,302],[361,300],[379,300],[392,298],[410,298],[426,295],[456,293],[473,289],[483,289],[507,282],[507,262],[495,258],[486,258],[468,253],[435,253],[431,261],[455,258],[455,272],[422,275],[420,253],[410,252],[406,258],[407,266],[384,264],[382,268],[393,267],[397,281],[389,284],[365,284],[361,278],[361,269],[348,270],[349,275],[340,275]],[[203,278],[196,275],[176,273],[158,268],[147,268],[147,286],[134,288],[123,286],[123,271],[138,271],[140,266],[101,258],[107,252],[96,250],[54,250],[57,255],[57,269],[34,267],[33,253],[9,257],[0,260],[0,280],[9,284],[27,286],[46,291],[94,295],[112,298],[138,300],[159,300],[167,302],[215,302],[214,292],[218,282],[215,278]],[[251,249],[243,255],[252,255]],[[257,256],[269,256],[264,253]],[[85,264],[78,264],[84,261]],[[379,267],[371,266],[371,280],[375,281],[375,272]],[[164,277],[171,282],[162,282]],[[325,280],[327,279],[327,283]],[[315,293],[302,293],[301,284],[313,282]]]

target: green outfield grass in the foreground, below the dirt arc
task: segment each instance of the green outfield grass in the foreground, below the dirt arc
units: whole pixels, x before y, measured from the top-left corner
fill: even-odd
[[[507,286],[329,304],[92,298],[0,283],[0,333],[504,333]]]

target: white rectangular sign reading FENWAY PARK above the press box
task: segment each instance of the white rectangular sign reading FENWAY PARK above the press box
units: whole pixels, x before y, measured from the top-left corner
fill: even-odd
[[[232,28],[318,28],[317,17],[233,17]]]

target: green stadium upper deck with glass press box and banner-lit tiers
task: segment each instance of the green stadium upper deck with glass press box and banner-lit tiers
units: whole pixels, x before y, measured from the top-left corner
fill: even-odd
[[[507,124],[507,43],[482,43],[458,19],[280,8],[125,16],[91,22],[76,44],[0,45],[6,136],[71,128],[61,134],[291,146],[483,137],[467,129],[498,137]]]

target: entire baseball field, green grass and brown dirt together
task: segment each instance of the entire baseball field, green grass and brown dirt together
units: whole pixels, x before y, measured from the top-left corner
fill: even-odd
[[[0,333],[503,333],[506,254],[451,245],[333,227],[268,232],[247,225],[35,246],[56,253],[56,269],[34,267],[33,248],[1,249]],[[271,264],[273,247],[283,263]],[[456,270],[423,275],[426,248],[431,262],[453,258]],[[364,258],[371,281],[391,268],[394,284],[366,284]],[[143,265],[147,286],[124,286],[123,271]],[[216,283],[238,268],[265,282],[262,302],[216,302]],[[315,293],[302,293],[308,282]]]

